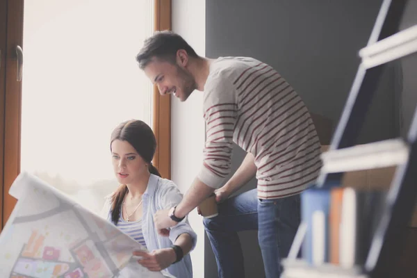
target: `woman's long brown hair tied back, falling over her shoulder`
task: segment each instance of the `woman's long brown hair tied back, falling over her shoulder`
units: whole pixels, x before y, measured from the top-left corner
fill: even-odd
[[[119,124],[111,134],[110,150],[111,144],[114,140],[129,142],[129,144],[136,149],[136,152],[138,152],[143,160],[148,163],[149,172],[161,177],[158,169],[152,165],[152,158],[154,158],[156,149],[154,132],[145,122],[140,120],[122,122],[122,124]],[[114,224],[119,222],[123,200],[128,192],[129,190],[126,184],[122,184],[117,188],[111,197],[111,221]]]

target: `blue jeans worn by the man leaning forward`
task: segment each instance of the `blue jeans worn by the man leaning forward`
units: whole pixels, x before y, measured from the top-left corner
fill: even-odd
[[[288,256],[300,224],[300,195],[258,199],[256,189],[224,201],[219,215],[204,219],[218,265],[219,278],[245,277],[238,231],[258,230],[267,278],[281,275],[281,258]]]

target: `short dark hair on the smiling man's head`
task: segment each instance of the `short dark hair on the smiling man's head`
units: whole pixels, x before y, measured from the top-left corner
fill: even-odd
[[[175,63],[177,51],[184,49],[188,56],[197,58],[193,47],[184,40],[181,35],[172,31],[158,31],[143,43],[142,49],[136,56],[139,67],[143,70],[152,58],[158,58],[170,63]]]

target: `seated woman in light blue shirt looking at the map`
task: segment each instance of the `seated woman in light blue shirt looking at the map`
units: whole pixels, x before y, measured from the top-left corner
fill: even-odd
[[[193,277],[188,253],[195,247],[197,236],[188,220],[164,230],[165,236],[155,229],[154,213],[176,206],[182,195],[151,163],[156,149],[152,129],[140,120],[123,122],[111,135],[110,149],[121,185],[104,205],[108,221],[149,250],[133,253],[142,257],[138,263],[144,267],[152,271],[166,268],[174,277]]]

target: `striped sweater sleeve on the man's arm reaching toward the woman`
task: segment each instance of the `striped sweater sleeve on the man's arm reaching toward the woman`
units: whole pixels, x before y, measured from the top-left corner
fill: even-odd
[[[219,188],[230,173],[237,104],[233,85],[220,72],[207,79],[204,88],[206,143],[203,165],[197,178],[211,188]]]

